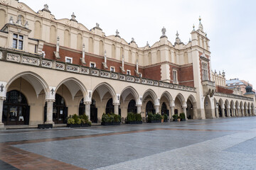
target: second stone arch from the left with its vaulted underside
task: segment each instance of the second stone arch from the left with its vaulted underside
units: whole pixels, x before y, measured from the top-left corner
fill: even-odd
[[[83,98],[87,97],[87,89],[80,80],[71,77],[60,81],[60,84],[58,84],[55,89],[55,93],[58,91],[62,84],[64,84],[68,88],[73,99],[75,98],[75,95],[78,93],[78,91],[82,91]]]

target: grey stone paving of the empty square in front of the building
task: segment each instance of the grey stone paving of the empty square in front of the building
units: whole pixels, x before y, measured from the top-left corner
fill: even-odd
[[[70,169],[256,169],[256,117],[3,130],[0,142],[1,150],[8,145],[15,152],[34,154],[41,162],[50,159],[48,164],[58,162],[55,167],[70,165]],[[3,152],[0,159],[26,169],[9,162]]]

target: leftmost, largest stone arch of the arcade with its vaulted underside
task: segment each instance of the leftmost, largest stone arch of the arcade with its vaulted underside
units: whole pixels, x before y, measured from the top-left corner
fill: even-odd
[[[46,83],[46,81],[40,77],[38,74],[33,73],[33,72],[21,72],[19,74],[16,74],[14,77],[12,77],[9,82],[6,84],[6,91],[8,91],[9,86],[18,78],[22,77],[23,79],[26,79],[26,81],[28,81],[34,88],[34,90],[36,91],[36,96],[38,96],[41,91],[45,91],[46,93],[46,98],[48,98],[48,92],[50,92],[49,90],[49,86]]]

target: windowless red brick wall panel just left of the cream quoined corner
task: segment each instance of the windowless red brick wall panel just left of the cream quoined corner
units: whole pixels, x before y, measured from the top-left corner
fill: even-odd
[[[161,80],[161,65],[145,68],[143,77],[146,79]]]

